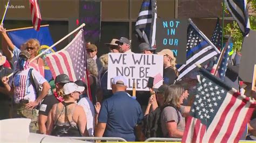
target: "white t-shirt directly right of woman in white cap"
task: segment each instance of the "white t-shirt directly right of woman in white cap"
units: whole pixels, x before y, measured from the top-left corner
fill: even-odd
[[[93,131],[95,127],[95,110],[92,102],[88,97],[83,97],[78,102],[78,105],[83,106],[85,114],[86,114],[86,120],[87,120],[87,131],[89,133],[90,137],[93,137]]]

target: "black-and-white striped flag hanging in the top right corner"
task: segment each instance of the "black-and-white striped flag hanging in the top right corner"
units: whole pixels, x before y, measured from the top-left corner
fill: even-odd
[[[225,0],[225,5],[227,6],[228,11],[230,11],[235,21],[237,21],[242,35],[246,36],[250,32],[251,28],[247,1]]]

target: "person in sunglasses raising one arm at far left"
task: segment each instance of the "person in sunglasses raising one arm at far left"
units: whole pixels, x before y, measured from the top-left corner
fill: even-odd
[[[5,31],[5,28],[2,25],[0,25],[0,33],[2,34],[3,39],[6,41],[9,47],[8,48],[7,46],[3,46],[2,50],[6,54],[6,58],[9,61],[11,61],[11,63],[13,64],[13,69],[16,69],[18,56],[19,56],[19,53],[21,53],[21,51],[26,50],[30,53],[31,58],[29,59],[29,61],[35,58],[35,56],[37,56],[38,50],[40,48],[40,44],[37,39],[29,39],[24,44],[22,44],[19,49],[13,44],[11,39],[8,37]],[[37,58],[32,62],[36,63],[38,66],[44,66],[44,61],[42,58]]]

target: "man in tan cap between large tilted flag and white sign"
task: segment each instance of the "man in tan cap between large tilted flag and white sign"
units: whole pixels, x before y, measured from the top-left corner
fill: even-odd
[[[98,53],[98,48],[94,44],[90,44],[86,46],[86,53],[87,53],[87,58],[93,59],[96,64],[98,71],[102,68],[102,63],[100,62],[99,58],[97,58],[97,53]]]

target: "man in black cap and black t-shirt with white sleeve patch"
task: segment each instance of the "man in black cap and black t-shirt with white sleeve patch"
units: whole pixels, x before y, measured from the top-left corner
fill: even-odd
[[[63,98],[57,95],[57,92],[63,88],[65,83],[70,82],[69,76],[66,74],[60,74],[55,78],[56,92],[53,95],[46,96],[40,106],[38,125],[39,133],[46,134],[46,121],[52,106],[56,103],[63,102]]]

